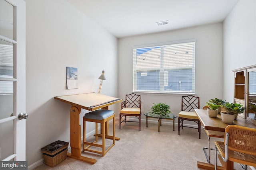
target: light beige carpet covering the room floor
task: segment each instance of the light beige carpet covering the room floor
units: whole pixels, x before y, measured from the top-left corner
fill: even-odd
[[[112,123],[110,131],[111,126]],[[206,133],[201,129],[199,139],[196,129],[184,127],[180,130],[178,135],[177,124],[175,131],[172,131],[172,123],[163,122],[158,132],[156,121],[150,121],[148,127],[146,122],[142,121],[141,131],[138,129],[138,123],[131,122],[123,123],[119,130],[119,119],[116,119],[116,137],[120,137],[120,141],[116,141],[105,156],[82,152],[83,156],[96,159],[95,164],[67,158],[54,168],[42,164],[35,170],[200,170],[197,168],[197,161],[207,163],[203,152],[203,147],[208,145]],[[89,139],[94,140],[94,137]],[[211,138],[212,147],[214,140]],[[111,141],[107,140],[106,145],[109,143]],[[214,150],[211,156],[211,163],[214,164]],[[237,163],[234,163],[234,169],[243,170]],[[251,168],[248,167],[248,170]]]

